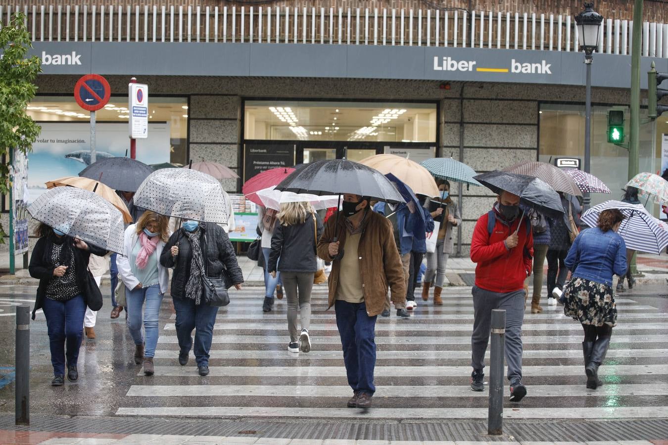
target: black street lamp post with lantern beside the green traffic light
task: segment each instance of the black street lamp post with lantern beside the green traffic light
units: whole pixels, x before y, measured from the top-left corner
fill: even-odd
[[[578,27],[578,43],[580,51],[585,51],[587,66],[587,83],[585,87],[585,171],[591,173],[591,63],[593,53],[599,48],[599,31],[603,16],[593,10],[593,2],[585,2],[585,11],[575,16]],[[589,208],[591,199],[585,193],[584,209]]]

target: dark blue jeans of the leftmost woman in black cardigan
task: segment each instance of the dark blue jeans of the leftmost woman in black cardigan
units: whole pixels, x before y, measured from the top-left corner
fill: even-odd
[[[77,366],[79,347],[83,338],[83,315],[86,314],[86,303],[80,295],[66,302],[44,298],[42,310],[49,333],[53,374],[64,376],[65,358],[68,366]]]

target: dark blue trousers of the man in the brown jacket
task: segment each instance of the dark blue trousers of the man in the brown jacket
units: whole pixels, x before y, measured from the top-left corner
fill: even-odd
[[[336,324],[343,346],[343,363],[348,384],[353,391],[373,396],[373,368],[375,368],[375,320],[367,315],[367,306],[336,300]]]

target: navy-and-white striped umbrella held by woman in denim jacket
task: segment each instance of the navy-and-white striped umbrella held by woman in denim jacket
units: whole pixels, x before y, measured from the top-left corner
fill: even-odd
[[[605,201],[585,211],[581,219],[587,226],[595,227],[599,214],[607,209],[619,209],[626,216],[617,233],[624,238],[627,248],[660,255],[668,246],[668,231],[641,204]]]

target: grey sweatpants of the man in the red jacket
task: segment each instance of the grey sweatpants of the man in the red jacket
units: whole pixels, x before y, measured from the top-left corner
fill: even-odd
[[[506,364],[508,380],[522,379],[522,322],[524,321],[524,289],[499,294],[473,286],[473,335],[471,366],[482,371],[490,340],[492,310],[506,310]]]

